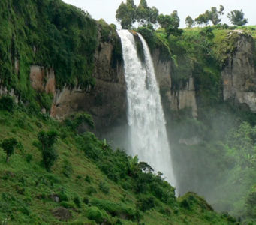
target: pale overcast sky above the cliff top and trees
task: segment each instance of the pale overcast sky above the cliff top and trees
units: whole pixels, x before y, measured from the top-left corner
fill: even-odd
[[[122,0],[62,0],[68,4],[75,5],[87,10],[92,18],[99,20],[103,18],[107,23],[117,25],[115,15],[116,9]],[[140,0],[134,0],[139,5]],[[178,11],[180,27],[185,27],[185,17],[190,15],[193,19],[204,13],[211,7],[224,6],[224,16],[221,23],[229,23],[227,13],[231,10],[242,9],[245,18],[248,18],[248,25],[256,25],[256,1],[255,0],[147,0],[150,7],[158,8],[159,13],[170,14],[173,10]]]

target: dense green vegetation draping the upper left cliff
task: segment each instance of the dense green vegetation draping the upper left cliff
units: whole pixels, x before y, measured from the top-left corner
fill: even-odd
[[[29,7],[28,7],[29,6]],[[53,68],[60,88],[93,86],[95,20],[62,1],[1,1],[0,77],[23,101],[35,101],[30,65]],[[17,66],[16,66],[17,65]]]

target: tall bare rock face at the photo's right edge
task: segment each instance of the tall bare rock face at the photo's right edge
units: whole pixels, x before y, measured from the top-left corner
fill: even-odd
[[[233,34],[239,34],[239,39],[236,52],[229,55],[227,66],[222,71],[224,101],[245,104],[256,113],[255,43],[242,31],[230,33]]]

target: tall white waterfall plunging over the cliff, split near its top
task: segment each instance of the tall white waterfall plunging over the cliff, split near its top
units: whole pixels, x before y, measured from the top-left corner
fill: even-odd
[[[137,154],[141,161],[149,163],[155,172],[163,172],[167,181],[176,187],[164,111],[149,48],[139,34],[145,55],[145,62],[141,62],[133,34],[127,30],[118,31],[118,34],[125,62],[129,151],[132,155]]]

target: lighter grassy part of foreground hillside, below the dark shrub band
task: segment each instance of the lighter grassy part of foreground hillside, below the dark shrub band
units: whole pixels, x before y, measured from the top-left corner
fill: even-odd
[[[41,153],[35,146],[37,133],[53,128],[62,138],[56,144],[59,158],[52,172],[47,172],[41,166]],[[119,224],[137,224],[136,220],[125,220],[131,214],[127,212],[125,216],[125,211],[138,211],[136,205],[140,194],[124,190],[118,182],[107,178],[93,160],[77,148],[77,134],[66,129],[59,122],[44,116],[27,115],[19,110],[14,114],[0,112],[0,139],[15,137],[20,142],[9,163],[5,163],[5,153],[0,151],[0,222],[8,218],[8,224],[71,224],[74,221],[77,223],[72,224],[95,224],[87,217],[93,208],[91,205],[98,205],[101,217],[110,224],[118,223],[118,219],[122,222]],[[28,160],[28,155],[32,156],[32,160]],[[66,170],[65,161],[69,163]],[[69,173],[69,177],[63,171]],[[109,193],[100,190],[101,182],[109,187]],[[89,193],[89,188],[96,193]],[[54,202],[51,198],[54,194],[60,196],[62,202]],[[146,195],[152,196],[150,193]],[[74,204],[76,197],[80,199],[80,207]],[[89,203],[84,203],[84,198]],[[111,202],[112,206],[107,206]],[[193,193],[175,200],[174,206],[158,199],[155,202],[155,208],[139,211],[141,224],[227,224],[226,219],[211,211],[209,205]],[[70,208],[72,217],[68,222],[53,216],[54,208],[61,205]],[[112,211],[111,214],[104,209]],[[114,217],[115,210],[123,213]]]

